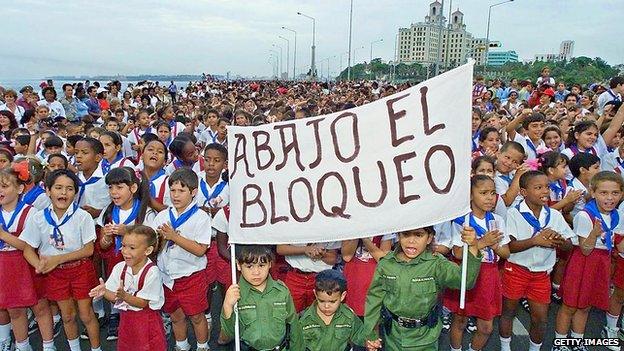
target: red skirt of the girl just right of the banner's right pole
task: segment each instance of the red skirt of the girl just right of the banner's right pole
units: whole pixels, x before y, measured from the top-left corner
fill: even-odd
[[[472,289],[466,291],[466,305],[459,309],[459,290],[444,292],[444,306],[460,316],[477,317],[486,321],[500,316],[503,293],[498,263],[481,263],[479,276]]]

